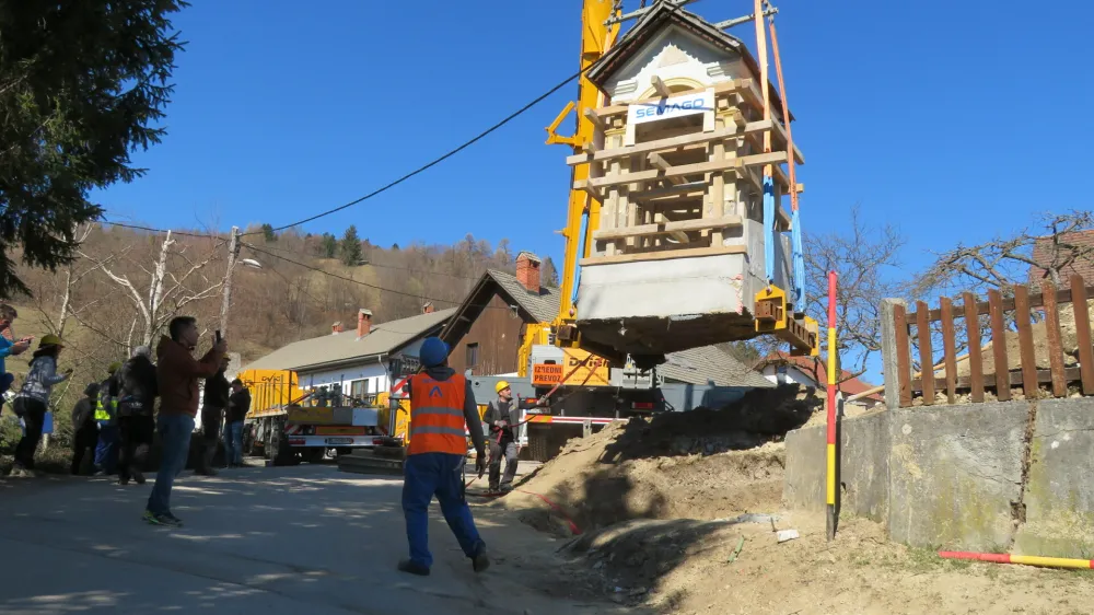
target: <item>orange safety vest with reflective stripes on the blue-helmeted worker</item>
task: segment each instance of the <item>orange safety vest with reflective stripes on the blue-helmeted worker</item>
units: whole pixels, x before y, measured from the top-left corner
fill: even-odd
[[[433,380],[426,374],[410,378],[410,446],[418,453],[467,454],[464,431],[464,399],[467,379],[453,374],[449,380]]]

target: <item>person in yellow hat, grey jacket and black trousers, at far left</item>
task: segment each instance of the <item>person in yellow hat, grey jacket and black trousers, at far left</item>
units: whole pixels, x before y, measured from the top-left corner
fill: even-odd
[[[57,357],[60,356],[61,338],[47,335],[38,343],[38,349],[31,359],[31,371],[26,374],[23,388],[15,397],[15,414],[23,419],[23,438],[15,446],[15,464],[12,476],[34,476],[34,452],[42,439],[42,427],[49,406],[49,392],[54,385],[72,375],[72,369],[57,375]]]

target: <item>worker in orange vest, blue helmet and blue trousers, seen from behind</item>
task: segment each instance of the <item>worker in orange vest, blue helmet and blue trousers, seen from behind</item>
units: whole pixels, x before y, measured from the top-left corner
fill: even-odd
[[[489,568],[486,543],[479,537],[464,494],[464,461],[468,427],[478,455],[479,474],[486,469],[486,442],[472,383],[447,367],[449,345],[428,337],[418,352],[422,373],[410,376],[405,390],[410,396],[410,445],[403,465],[403,513],[407,520],[410,558],[399,570],[426,577],[433,556],[429,553],[429,504],[437,496],[449,527],[459,547],[481,572]]]

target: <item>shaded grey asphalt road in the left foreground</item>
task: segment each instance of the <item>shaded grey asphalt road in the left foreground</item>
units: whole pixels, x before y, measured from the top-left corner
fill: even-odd
[[[573,594],[558,542],[481,507],[489,571],[472,571],[434,502],[432,576],[398,572],[400,479],[334,465],[185,473],[176,530],[141,521],[150,488],[0,479],[0,613],[616,612]]]

